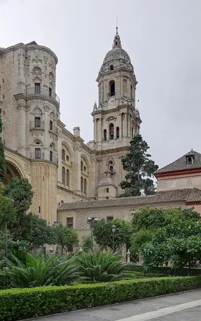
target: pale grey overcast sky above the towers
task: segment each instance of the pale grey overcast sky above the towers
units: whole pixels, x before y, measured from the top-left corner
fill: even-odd
[[[0,13],[0,47],[35,40],[56,53],[61,120],[70,131],[79,126],[86,142],[118,16],[152,158],[161,167],[191,148],[201,152],[200,0],[0,0]]]

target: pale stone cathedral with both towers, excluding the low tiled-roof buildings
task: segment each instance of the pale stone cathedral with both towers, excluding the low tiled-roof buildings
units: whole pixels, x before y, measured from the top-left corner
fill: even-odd
[[[94,135],[87,144],[79,127],[70,133],[60,120],[57,63],[54,52],[35,41],[0,48],[5,184],[11,177],[27,177],[34,191],[31,210],[50,224],[60,203],[121,193],[121,160],[141,124],[136,76],[118,33],[96,79]]]

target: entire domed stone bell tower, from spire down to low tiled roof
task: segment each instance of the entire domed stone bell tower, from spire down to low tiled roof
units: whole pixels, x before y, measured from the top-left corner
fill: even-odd
[[[140,131],[140,114],[136,109],[135,91],[137,80],[131,59],[122,48],[120,36],[114,37],[113,48],[110,50],[99,70],[98,105],[94,103],[93,112],[93,146],[97,151],[96,196],[111,198],[122,192],[119,183],[124,179],[125,172],[121,160],[127,152],[131,138]],[[92,148],[92,142],[90,142]],[[112,181],[105,186],[106,173]],[[101,181],[101,183],[99,183]],[[99,185],[98,185],[99,184]],[[100,189],[101,185],[101,189]]]

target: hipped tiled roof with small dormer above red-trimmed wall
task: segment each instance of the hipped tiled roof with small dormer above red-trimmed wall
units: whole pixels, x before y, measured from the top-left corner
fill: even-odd
[[[191,165],[187,164],[188,156],[193,157],[193,162]],[[187,170],[187,169],[197,169],[197,168],[201,168],[201,154],[191,150],[187,154],[175,160],[173,163],[158,169],[155,172],[155,174],[157,176],[157,174],[160,174],[160,173],[168,173],[168,172],[175,172],[175,171]]]

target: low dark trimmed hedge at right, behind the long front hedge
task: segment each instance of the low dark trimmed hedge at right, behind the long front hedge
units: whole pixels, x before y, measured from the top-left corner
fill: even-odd
[[[133,272],[144,272],[143,266],[140,264],[131,264],[129,266],[130,271]],[[187,267],[182,269],[173,270],[170,266],[158,266],[153,267],[148,273],[159,274],[161,276],[191,276],[201,275],[201,268],[191,268],[190,270]]]

